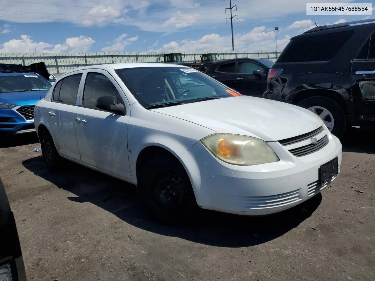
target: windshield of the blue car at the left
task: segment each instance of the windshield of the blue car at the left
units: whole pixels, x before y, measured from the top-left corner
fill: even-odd
[[[51,84],[36,74],[0,76],[0,93],[49,90]]]

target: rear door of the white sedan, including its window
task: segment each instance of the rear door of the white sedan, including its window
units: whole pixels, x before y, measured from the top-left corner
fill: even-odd
[[[58,152],[80,161],[74,128],[74,112],[82,72],[74,73],[60,80],[54,87],[51,102],[47,105],[49,128]]]

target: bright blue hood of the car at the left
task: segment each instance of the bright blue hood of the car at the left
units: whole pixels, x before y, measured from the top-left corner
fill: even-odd
[[[48,90],[0,93],[0,102],[6,102],[20,106],[34,105],[38,100],[43,99],[47,93]]]

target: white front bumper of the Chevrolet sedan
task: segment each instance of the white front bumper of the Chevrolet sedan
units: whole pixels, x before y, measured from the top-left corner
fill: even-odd
[[[279,142],[269,145],[280,161],[237,166],[214,157],[201,142],[180,156],[192,182],[196,201],[203,209],[241,215],[267,215],[289,209],[326,188],[335,178],[320,185],[318,169],[338,157],[342,145],[329,136],[329,143],[312,154],[296,157]]]

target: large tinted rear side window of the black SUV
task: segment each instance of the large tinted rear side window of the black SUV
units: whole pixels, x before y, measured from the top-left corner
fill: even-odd
[[[328,61],[353,36],[354,30],[296,38],[289,42],[278,63]]]

